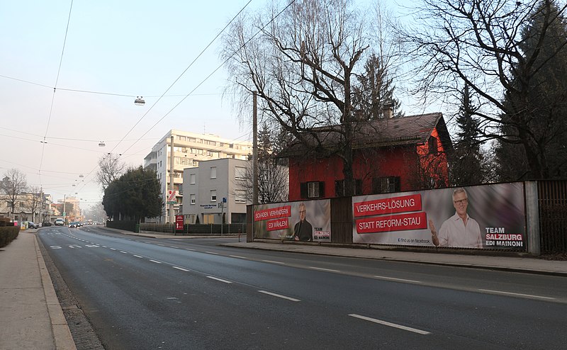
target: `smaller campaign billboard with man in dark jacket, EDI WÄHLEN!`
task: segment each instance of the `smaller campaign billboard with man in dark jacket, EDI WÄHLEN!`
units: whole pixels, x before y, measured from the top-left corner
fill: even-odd
[[[254,238],[331,242],[329,199],[254,205]]]

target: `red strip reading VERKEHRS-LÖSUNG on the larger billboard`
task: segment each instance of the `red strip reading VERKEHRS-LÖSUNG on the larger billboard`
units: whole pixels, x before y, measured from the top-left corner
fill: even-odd
[[[361,216],[404,213],[420,210],[421,194],[354,203],[354,216],[356,218]]]

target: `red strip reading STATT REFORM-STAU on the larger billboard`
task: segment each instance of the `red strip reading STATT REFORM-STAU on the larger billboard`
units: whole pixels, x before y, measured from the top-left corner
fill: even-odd
[[[427,214],[424,212],[381,216],[357,220],[357,233],[420,230],[427,228]]]

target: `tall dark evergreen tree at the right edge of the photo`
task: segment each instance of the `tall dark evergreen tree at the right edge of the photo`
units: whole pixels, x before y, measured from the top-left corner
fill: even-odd
[[[544,27],[545,23],[550,26]],[[546,28],[546,35],[541,35]],[[544,38],[544,40],[539,40]],[[512,69],[515,86],[527,86],[526,96],[506,94],[504,104],[510,111],[502,115],[502,137],[509,142],[499,142],[495,149],[498,159],[498,175],[501,181],[530,179],[534,175],[529,168],[529,159],[522,143],[522,134],[529,132],[535,140],[531,147],[541,152],[540,162],[544,166],[544,178],[567,176],[567,23],[560,16],[554,1],[542,0],[532,20],[522,30],[520,49],[524,57],[534,57],[534,67],[540,67],[527,80],[517,72],[522,72],[520,61]],[[534,55],[539,52],[539,55]],[[520,113],[533,115],[524,125],[507,123]]]

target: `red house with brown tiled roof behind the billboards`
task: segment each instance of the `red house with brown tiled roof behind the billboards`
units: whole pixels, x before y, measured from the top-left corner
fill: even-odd
[[[357,124],[352,140],[355,195],[449,186],[447,153],[453,146],[441,113]],[[308,135],[310,152],[296,142],[280,154],[289,160],[289,201],[344,196],[342,157],[332,152],[340,133],[327,127]]]

